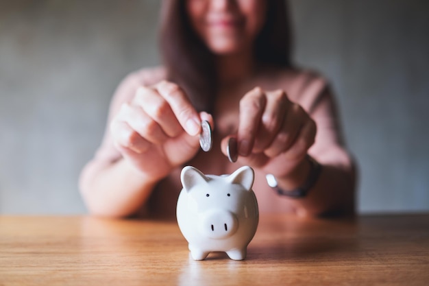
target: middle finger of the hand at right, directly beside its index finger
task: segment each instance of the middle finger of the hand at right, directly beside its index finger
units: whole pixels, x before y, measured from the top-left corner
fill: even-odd
[[[282,127],[289,105],[289,99],[284,91],[278,90],[267,93],[267,104],[256,135],[254,153],[260,153],[271,145]]]

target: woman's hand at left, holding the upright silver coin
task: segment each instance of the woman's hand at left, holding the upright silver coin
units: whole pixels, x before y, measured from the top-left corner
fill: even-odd
[[[160,180],[191,160],[199,150],[201,120],[213,120],[193,108],[177,84],[141,86],[112,119],[114,145],[143,176]]]

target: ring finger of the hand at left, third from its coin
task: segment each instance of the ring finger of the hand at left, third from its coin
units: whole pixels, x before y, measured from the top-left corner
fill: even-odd
[[[167,135],[162,131],[159,124],[139,106],[123,104],[119,117],[151,143],[160,144],[167,140]]]

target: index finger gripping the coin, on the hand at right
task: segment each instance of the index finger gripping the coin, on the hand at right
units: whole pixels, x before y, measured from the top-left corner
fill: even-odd
[[[240,101],[237,140],[238,154],[241,156],[248,156],[252,151],[266,101],[265,94],[260,88],[249,91]]]

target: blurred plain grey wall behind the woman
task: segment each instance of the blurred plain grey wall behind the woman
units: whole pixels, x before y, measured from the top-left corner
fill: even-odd
[[[429,211],[429,1],[293,0],[295,62],[332,82],[358,211]],[[79,171],[131,71],[160,64],[157,0],[0,0],[0,213],[79,214]]]

